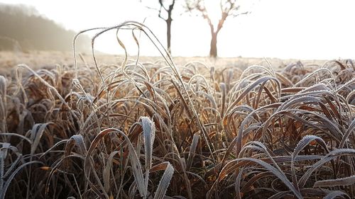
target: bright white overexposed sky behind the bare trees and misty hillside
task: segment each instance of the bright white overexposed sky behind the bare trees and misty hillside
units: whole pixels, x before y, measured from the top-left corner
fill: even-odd
[[[150,6],[158,1],[142,0]],[[178,2],[180,0],[177,0]],[[217,0],[206,0],[217,1]],[[124,21],[143,22],[165,44],[165,21],[138,0],[0,0],[32,5],[39,13],[72,30],[112,26]],[[179,5],[177,5],[179,6]],[[355,1],[257,0],[247,16],[229,18],[218,36],[219,57],[279,57],[296,59],[355,58]],[[180,8],[181,9],[181,8]],[[174,56],[209,55],[209,26],[202,18],[174,13]],[[136,54],[131,33],[122,35],[129,53]],[[158,55],[141,38],[141,55]],[[122,53],[114,33],[99,38],[97,50]],[[131,44],[133,46],[131,46]]]

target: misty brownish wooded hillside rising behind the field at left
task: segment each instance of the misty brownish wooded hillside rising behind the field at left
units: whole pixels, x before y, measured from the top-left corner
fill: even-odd
[[[72,50],[75,31],[40,16],[31,6],[0,4],[0,50]],[[88,51],[90,39],[81,36],[77,50]]]

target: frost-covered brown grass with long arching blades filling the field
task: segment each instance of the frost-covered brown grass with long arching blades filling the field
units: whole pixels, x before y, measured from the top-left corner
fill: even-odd
[[[0,198],[355,197],[351,60],[176,66],[134,22],[93,49],[127,28],[165,62],[0,76]]]

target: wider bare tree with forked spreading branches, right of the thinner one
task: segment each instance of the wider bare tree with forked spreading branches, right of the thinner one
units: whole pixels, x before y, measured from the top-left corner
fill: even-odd
[[[212,0],[206,0],[212,1]],[[217,1],[217,0],[215,0]],[[190,12],[197,11],[204,19],[206,19],[210,31],[211,31],[211,45],[209,50],[209,57],[217,57],[217,35],[219,30],[222,29],[224,22],[229,16],[239,16],[241,14],[246,14],[248,12],[241,13],[239,8],[240,5],[237,4],[236,0],[219,0],[219,9],[221,10],[221,16],[219,18],[218,24],[214,24],[211,16],[207,12],[204,0],[187,0],[186,1],[187,10]],[[217,26],[217,27],[216,27]]]

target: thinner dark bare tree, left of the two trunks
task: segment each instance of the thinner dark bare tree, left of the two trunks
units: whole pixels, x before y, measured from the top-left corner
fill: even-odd
[[[173,22],[171,15],[175,6],[175,0],[158,0],[158,3],[158,9],[152,7],[148,8],[158,11],[158,17],[165,21],[168,52],[171,54],[171,23]]]

